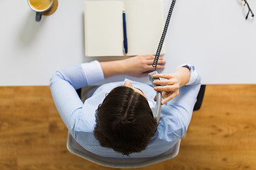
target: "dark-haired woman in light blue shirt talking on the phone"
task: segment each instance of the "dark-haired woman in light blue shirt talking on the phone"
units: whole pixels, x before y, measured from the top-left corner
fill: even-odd
[[[125,79],[103,84],[82,103],[76,89],[117,74],[143,77],[154,70],[154,55],[112,62],[78,64],[56,72],[50,80],[55,106],[75,140],[101,157],[154,157],[186,134],[200,89],[195,67],[184,64],[173,74],[155,74],[157,86]],[[160,58],[158,69],[164,69]],[[163,91],[161,120],[153,118],[156,91]],[[129,155],[129,157],[127,157]]]

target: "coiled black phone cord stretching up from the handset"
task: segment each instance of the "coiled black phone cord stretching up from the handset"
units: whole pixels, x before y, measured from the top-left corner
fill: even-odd
[[[175,2],[176,2],[176,0],[173,0],[173,1],[171,2],[171,7],[170,7],[170,9],[169,9],[169,13],[168,13],[168,16],[167,16],[167,18],[166,18],[166,23],[165,23],[165,26],[164,26],[164,31],[163,31],[163,33],[162,33],[162,35],[161,35],[161,39],[160,39],[160,42],[159,42],[159,46],[157,47],[157,50],[156,50],[156,56],[155,56],[154,62],[153,62],[153,64],[152,64],[152,67],[154,67],[155,70],[156,70],[157,62],[158,62],[159,57],[160,57],[161,48],[162,48],[163,43],[164,43],[164,38],[165,38],[165,36],[166,36],[167,29],[168,29],[168,26],[169,26],[169,23],[170,23],[171,13],[172,13],[173,10],[174,10]]]

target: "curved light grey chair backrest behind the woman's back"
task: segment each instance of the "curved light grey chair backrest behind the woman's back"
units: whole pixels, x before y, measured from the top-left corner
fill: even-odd
[[[172,159],[176,157],[178,154],[178,150],[180,147],[181,140],[179,140],[174,147],[169,149],[168,151],[160,154],[156,157],[149,158],[126,158],[126,159],[113,159],[107,157],[100,157],[97,154],[93,154],[84,149],[78,142],[75,141],[75,138],[68,133],[68,142],[67,148],[68,151],[87,159],[90,162],[94,162],[95,164],[100,164],[102,166],[107,166],[111,168],[139,168],[142,166],[149,166],[151,164],[156,164],[159,162],[166,161],[168,159]]]

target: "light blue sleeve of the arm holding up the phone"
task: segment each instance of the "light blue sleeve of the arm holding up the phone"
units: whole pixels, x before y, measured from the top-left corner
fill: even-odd
[[[201,88],[201,74],[198,72],[196,67],[190,64],[183,64],[180,67],[187,67],[190,70],[190,79],[188,84],[179,89],[178,96],[167,102],[165,106],[162,107],[162,112],[164,115],[167,115],[166,118],[163,118],[163,123],[165,125],[170,125],[176,122],[176,128],[171,128],[171,130],[179,130],[179,134],[177,135],[183,137],[183,135],[186,134],[189,123],[191,122],[193,107],[196,103],[198,91]]]

